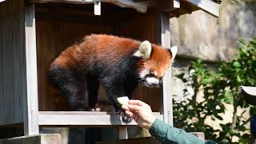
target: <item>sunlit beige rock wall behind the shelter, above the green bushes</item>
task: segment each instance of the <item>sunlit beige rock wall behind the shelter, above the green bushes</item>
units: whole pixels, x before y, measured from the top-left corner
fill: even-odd
[[[239,38],[256,37],[256,2],[222,1],[220,17],[198,10],[170,19],[171,45],[178,56],[208,61],[230,60],[236,54]]]

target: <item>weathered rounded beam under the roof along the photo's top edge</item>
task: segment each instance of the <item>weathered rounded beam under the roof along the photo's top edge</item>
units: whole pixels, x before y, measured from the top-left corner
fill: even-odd
[[[94,2],[108,2],[115,6],[132,8],[140,13],[146,13],[147,7],[150,6],[150,1],[133,2],[130,0],[29,0],[29,2],[46,3],[46,2],[66,2],[73,4],[94,4]]]

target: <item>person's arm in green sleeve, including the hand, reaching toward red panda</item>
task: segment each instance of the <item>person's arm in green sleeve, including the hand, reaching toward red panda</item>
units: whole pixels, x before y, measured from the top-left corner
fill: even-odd
[[[150,134],[162,143],[209,143],[204,142],[194,136],[186,133],[185,130],[174,128],[165,122],[154,118],[154,114],[149,105],[138,100],[130,100],[128,106],[122,106],[126,115],[133,118],[138,126],[150,130]]]

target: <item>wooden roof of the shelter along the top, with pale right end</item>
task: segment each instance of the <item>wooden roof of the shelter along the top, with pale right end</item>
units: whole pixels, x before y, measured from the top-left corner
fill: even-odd
[[[34,3],[66,2],[74,4],[93,4],[94,2],[108,2],[120,7],[131,8],[140,13],[148,9],[156,9],[170,13],[170,17],[191,14],[195,10],[204,10],[215,17],[219,16],[220,0],[27,0]]]

